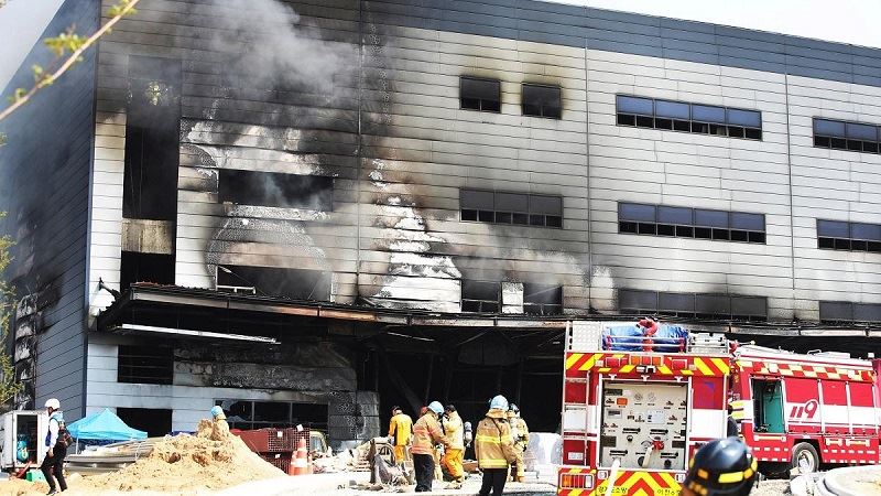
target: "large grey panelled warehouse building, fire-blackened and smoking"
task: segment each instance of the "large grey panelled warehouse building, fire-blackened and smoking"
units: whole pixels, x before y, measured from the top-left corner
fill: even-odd
[[[567,319],[870,349],[880,88],[878,50],[533,0],[142,0],[2,122],[18,402],[555,430]]]

